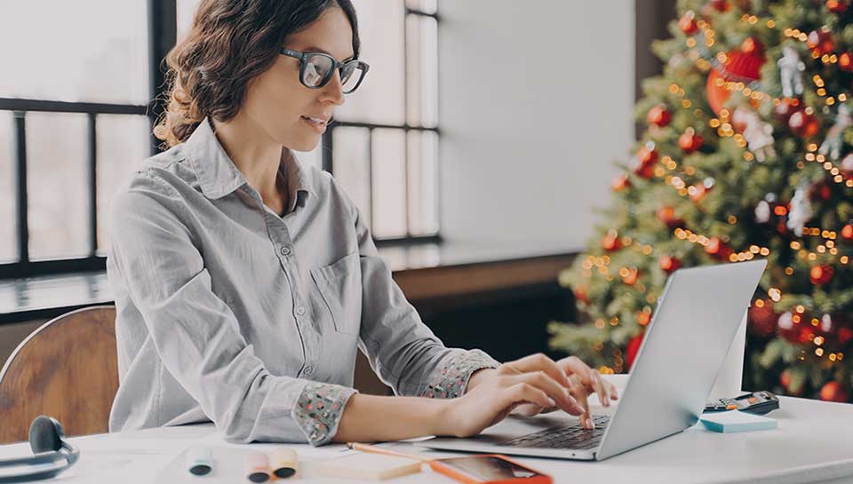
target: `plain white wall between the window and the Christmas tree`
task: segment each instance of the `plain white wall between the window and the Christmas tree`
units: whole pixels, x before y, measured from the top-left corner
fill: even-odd
[[[634,2],[440,13],[442,235],[583,247],[634,139]]]

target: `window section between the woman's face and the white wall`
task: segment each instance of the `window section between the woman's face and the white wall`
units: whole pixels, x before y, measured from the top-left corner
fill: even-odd
[[[437,239],[437,2],[354,4],[371,72],[323,135],[323,168],[353,198],[377,242]]]

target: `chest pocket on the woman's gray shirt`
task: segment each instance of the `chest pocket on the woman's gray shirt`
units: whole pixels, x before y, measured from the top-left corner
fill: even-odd
[[[331,312],[335,330],[358,336],[362,322],[362,267],[358,252],[311,269],[311,278]]]

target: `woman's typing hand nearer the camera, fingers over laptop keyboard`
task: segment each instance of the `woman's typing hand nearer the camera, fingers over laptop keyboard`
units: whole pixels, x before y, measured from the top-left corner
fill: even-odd
[[[575,383],[556,364],[542,365],[528,356],[504,363],[467,393],[446,401],[439,434],[454,437],[477,435],[506,418],[515,407],[530,403],[543,409],[558,408],[579,416],[585,409],[570,392]]]

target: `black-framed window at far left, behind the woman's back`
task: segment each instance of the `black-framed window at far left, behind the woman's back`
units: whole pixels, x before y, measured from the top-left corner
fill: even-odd
[[[152,151],[146,20],[162,4],[4,5],[0,278],[103,268],[108,202]]]

